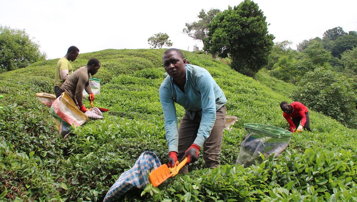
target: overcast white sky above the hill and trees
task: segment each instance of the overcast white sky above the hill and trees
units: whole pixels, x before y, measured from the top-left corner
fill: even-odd
[[[241,1],[0,0],[0,24],[25,29],[48,59],[63,57],[72,45],[80,53],[150,48],[147,38],[159,32],[170,36],[173,48],[193,51],[194,45],[203,44],[182,33],[185,23],[199,20],[201,9],[226,10]],[[274,42],[290,40],[293,49],[337,26],[357,31],[357,0],[254,2],[267,17]]]

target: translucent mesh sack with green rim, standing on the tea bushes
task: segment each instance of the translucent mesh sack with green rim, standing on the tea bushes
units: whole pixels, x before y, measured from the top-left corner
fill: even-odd
[[[271,125],[246,123],[244,131],[236,161],[236,164],[242,164],[244,167],[260,164],[262,162],[260,153],[264,156],[274,153],[277,157],[286,149],[291,140],[290,131]]]

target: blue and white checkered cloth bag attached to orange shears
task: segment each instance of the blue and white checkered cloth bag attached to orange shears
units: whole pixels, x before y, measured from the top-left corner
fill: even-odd
[[[107,192],[103,202],[116,201],[132,187],[144,189],[149,183],[147,173],[161,166],[159,158],[151,151],[141,153],[133,167],[123,172]]]

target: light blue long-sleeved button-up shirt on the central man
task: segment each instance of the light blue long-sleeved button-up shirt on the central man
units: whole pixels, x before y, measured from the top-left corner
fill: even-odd
[[[216,111],[227,103],[226,96],[217,85],[211,74],[202,67],[186,64],[185,92],[175,84],[174,79],[167,76],[161,83],[160,102],[165,118],[167,146],[176,151],[178,146],[178,128],[175,102],[180,104],[185,113],[193,119],[196,113],[201,116],[200,127],[193,144],[202,147],[210,136],[216,121]]]

